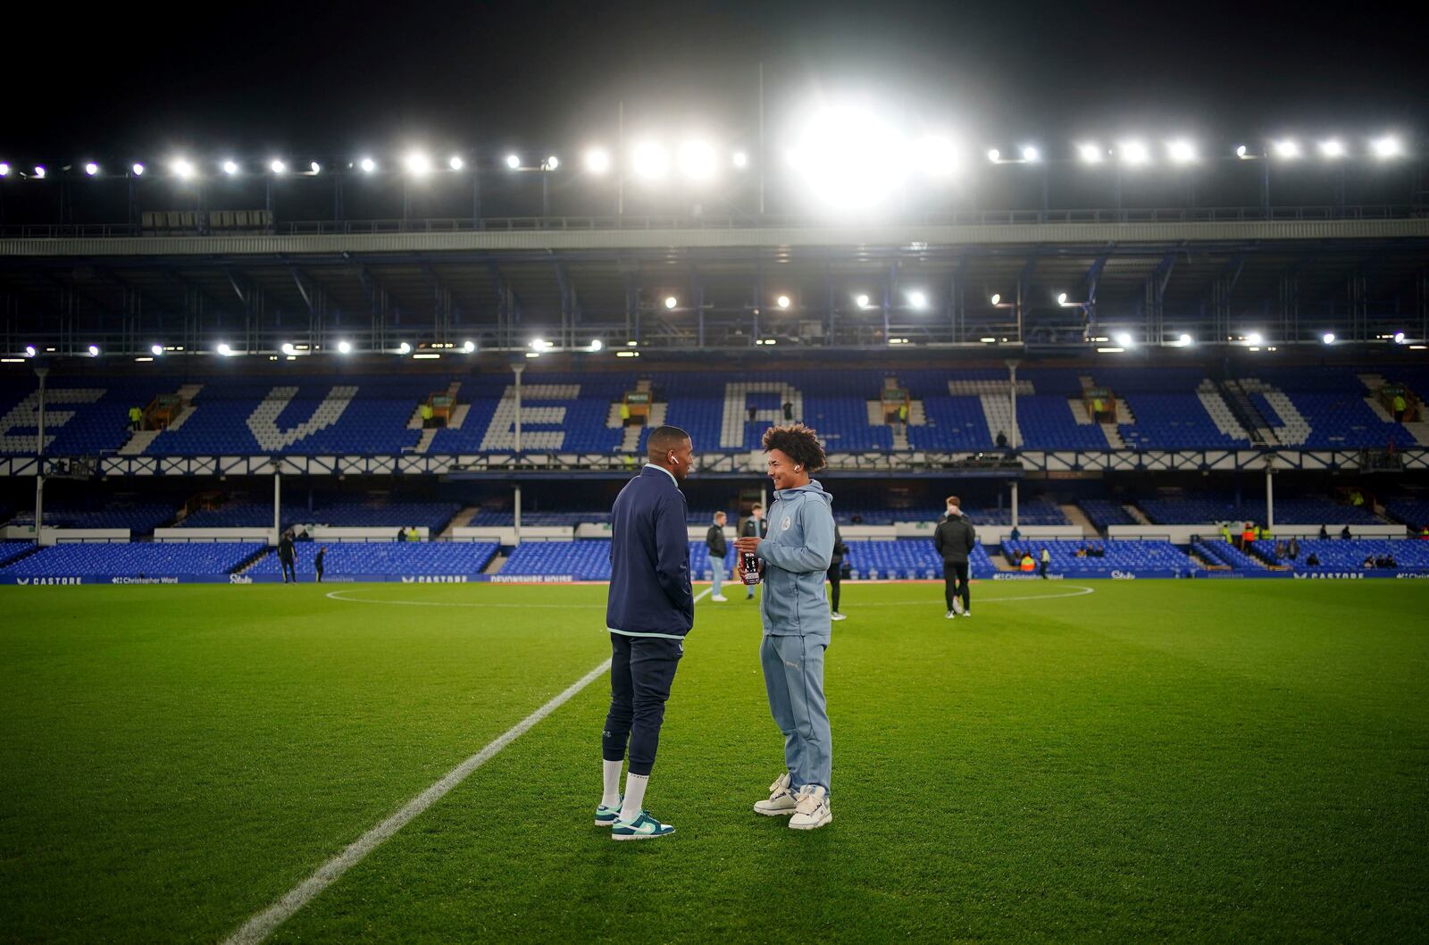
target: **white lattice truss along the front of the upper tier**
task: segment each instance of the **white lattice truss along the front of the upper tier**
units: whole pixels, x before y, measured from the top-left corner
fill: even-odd
[[[46,476],[86,457],[44,457]],[[0,457],[0,476],[34,476],[34,456]],[[449,476],[523,480],[623,478],[639,469],[620,453],[489,453],[402,456],[104,456],[100,476]],[[752,453],[707,453],[697,457],[702,478],[762,476],[763,457]],[[1429,449],[1385,450],[1026,450],[1019,453],[832,453],[830,472],[852,478],[982,478],[1017,479],[1029,473],[1099,472],[1425,472]]]

